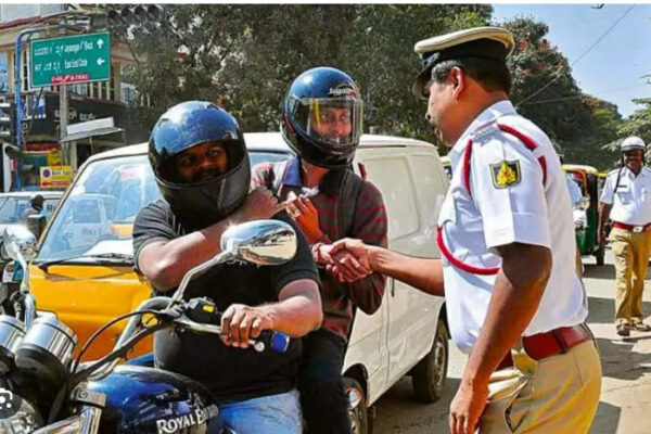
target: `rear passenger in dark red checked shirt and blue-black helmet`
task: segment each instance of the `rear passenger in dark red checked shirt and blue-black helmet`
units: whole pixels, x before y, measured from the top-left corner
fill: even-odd
[[[361,120],[362,100],[347,74],[331,67],[306,71],[289,89],[281,122],[282,136],[297,156],[253,168],[253,184],[270,188],[286,203],[311,245],[323,282],[323,327],[303,340],[298,382],[310,434],[350,433],[342,368],[354,309],[372,315],[384,295],[384,277],[360,272],[349,253],[327,259],[332,243],[345,237],[387,244],[382,194],[348,169]],[[308,190],[310,197],[304,194]],[[333,272],[334,261],[342,272]]]

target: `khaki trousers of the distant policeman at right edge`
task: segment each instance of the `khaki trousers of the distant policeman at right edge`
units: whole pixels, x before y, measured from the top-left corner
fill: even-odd
[[[615,323],[640,322],[651,232],[613,228],[610,242],[615,257]]]

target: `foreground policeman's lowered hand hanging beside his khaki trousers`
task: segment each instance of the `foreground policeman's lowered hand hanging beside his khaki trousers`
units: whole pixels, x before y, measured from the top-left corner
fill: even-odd
[[[487,384],[473,384],[461,380],[455,399],[450,404],[450,433],[474,434],[480,416],[488,399]]]

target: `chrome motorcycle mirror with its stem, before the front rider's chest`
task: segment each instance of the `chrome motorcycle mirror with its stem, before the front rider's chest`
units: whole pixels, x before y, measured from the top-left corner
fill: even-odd
[[[296,232],[280,220],[253,220],[227,229],[221,234],[221,252],[214,258],[192,268],[174,293],[169,306],[183,298],[188,283],[217,264],[228,260],[245,260],[258,265],[281,265],[296,254]]]

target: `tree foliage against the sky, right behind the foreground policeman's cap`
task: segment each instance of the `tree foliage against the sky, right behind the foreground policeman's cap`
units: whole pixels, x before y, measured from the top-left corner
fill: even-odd
[[[509,66],[518,111],[563,148],[566,161],[609,166],[613,155],[602,145],[616,138],[616,106],[578,88],[567,59],[547,39],[546,24],[519,17],[502,25],[516,41]]]

